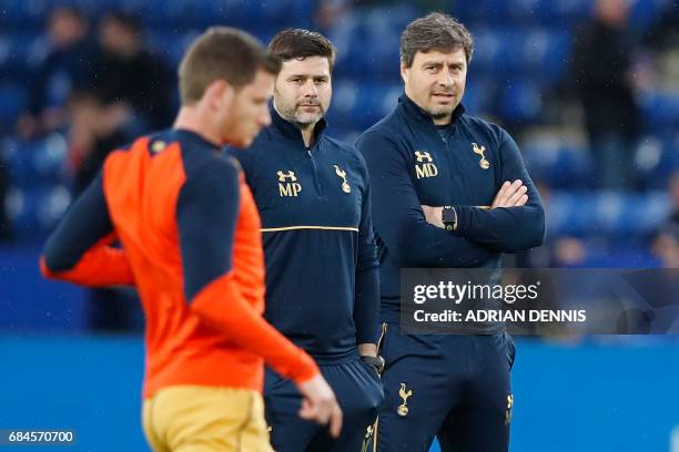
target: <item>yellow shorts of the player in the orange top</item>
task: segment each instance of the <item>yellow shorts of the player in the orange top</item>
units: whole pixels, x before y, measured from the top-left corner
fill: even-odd
[[[273,452],[262,396],[249,389],[175,386],[144,401],[154,452]]]

